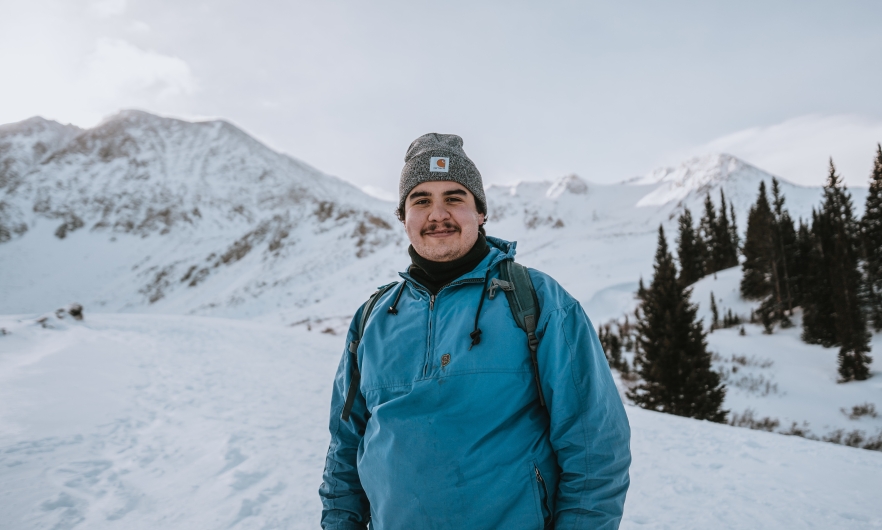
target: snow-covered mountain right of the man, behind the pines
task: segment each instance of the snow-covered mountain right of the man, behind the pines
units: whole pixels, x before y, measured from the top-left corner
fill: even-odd
[[[603,322],[633,308],[639,278],[648,280],[652,274],[660,224],[673,245],[683,209],[689,208],[697,223],[706,196],[719,208],[722,190],[743,234],[760,181],[771,189],[771,180],[769,173],[723,154],[620,184],[568,176],[557,182],[491,186],[488,230],[517,239],[524,263],[557,278],[595,321]],[[791,216],[810,218],[821,188],[779,181]],[[863,211],[866,189],[852,190],[852,195],[857,211]]]

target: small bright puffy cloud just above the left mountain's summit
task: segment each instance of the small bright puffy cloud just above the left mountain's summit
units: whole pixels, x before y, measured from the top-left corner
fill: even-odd
[[[83,66],[81,89],[101,99],[140,103],[189,95],[198,89],[183,59],[142,50],[124,40],[100,39]]]

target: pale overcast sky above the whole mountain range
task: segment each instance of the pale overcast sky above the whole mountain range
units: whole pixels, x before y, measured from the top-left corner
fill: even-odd
[[[396,193],[426,132],[485,183],[615,182],[704,152],[866,185],[882,2],[0,0],[0,123],[223,118]]]

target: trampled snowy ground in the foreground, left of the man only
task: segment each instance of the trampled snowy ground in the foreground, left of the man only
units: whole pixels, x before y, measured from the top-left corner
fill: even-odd
[[[0,527],[317,526],[339,338],[50,319],[0,324]]]

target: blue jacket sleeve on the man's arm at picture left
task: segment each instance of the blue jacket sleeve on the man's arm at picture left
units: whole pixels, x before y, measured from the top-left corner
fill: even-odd
[[[340,418],[352,381],[350,363],[353,356],[349,353],[349,343],[356,336],[356,322],[363,310],[364,306],[349,326],[331,395],[331,443],[322,476],[324,482],[319,488],[321,523],[325,530],[364,530],[370,520],[370,505],[358,477],[357,465],[358,446],[367,423],[367,408],[360,391],[356,394],[349,421]]]

